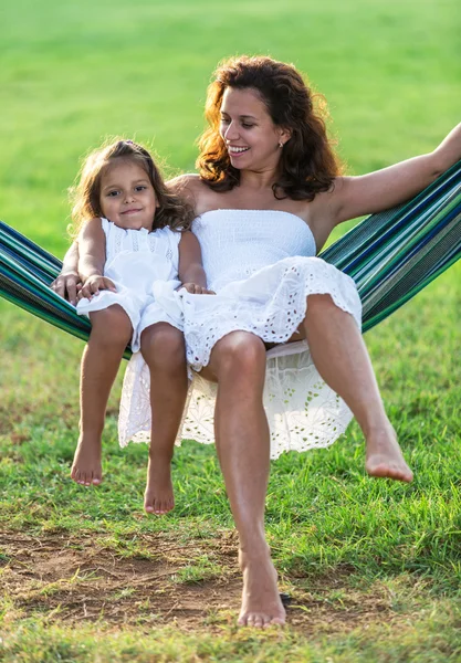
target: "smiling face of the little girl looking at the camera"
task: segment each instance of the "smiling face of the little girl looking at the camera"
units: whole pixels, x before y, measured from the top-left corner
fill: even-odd
[[[153,229],[157,200],[147,172],[136,161],[115,159],[101,178],[101,209],[121,228]]]

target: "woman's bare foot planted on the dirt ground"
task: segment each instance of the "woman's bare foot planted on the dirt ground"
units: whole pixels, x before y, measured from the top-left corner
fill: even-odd
[[[263,629],[271,624],[285,623],[285,609],[280,599],[276,571],[269,551],[250,559],[239,551],[239,564],[243,572],[242,609],[239,627]]]

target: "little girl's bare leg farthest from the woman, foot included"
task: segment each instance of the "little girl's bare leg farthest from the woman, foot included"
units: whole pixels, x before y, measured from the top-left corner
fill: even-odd
[[[124,309],[115,304],[90,314],[92,332],[83,351],[80,390],[80,436],[71,477],[78,484],[99,484],[101,438],[107,400],[133,334]]]

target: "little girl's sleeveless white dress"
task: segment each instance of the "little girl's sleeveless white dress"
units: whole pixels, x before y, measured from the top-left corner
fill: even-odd
[[[178,281],[180,232],[169,228],[149,232],[125,230],[101,219],[106,235],[104,276],[117,292],[101,291],[92,299],[81,299],[76,311],[88,315],[113,304],[124,308],[133,325],[132,349],[139,349],[143,330],[156,323],[169,323],[182,330],[180,302],[175,296]]]

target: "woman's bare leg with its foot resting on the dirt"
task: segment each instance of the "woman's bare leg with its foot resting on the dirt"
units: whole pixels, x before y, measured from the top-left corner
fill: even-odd
[[[239,532],[243,572],[239,624],[259,628],[283,624],[285,610],[264,535],[270,436],[262,404],[263,343],[247,332],[229,334],[214,346],[202,375],[218,381],[216,443]]]

